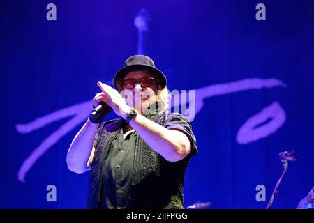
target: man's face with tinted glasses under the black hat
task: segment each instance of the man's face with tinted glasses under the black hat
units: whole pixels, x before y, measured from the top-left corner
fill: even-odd
[[[141,82],[142,84],[140,84]],[[135,107],[138,111],[144,112],[149,105],[156,102],[157,92],[160,89],[161,86],[157,85],[156,78],[153,75],[144,70],[135,70],[124,77],[124,86],[121,93],[130,107]]]

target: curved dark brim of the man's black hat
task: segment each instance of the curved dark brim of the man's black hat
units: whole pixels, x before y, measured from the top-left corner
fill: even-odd
[[[167,86],[167,79],[166,79],[165,75],[163,74],[163,72],[161,72],[157,68],[153,68],[151,66],[145,66],[142,64],[133,64],[133,65],[121,68],[116,73],[116,75],[114,75],[114,79],[113,79],[114,86],[118,89],[118,86],[116,86],[117,82],[119,80],[124,79],[124,77],[128,74],[128,72],[131,72],[133,70],[149,70],[149,72],[151,72],[152,75],[155,75],[159,79],[159,82],[160,82],[160,85],[162,88]]]

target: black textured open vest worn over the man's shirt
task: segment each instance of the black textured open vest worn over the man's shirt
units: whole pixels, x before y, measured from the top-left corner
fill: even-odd
[[[146,117],[165,125],[168,112]],[[100,208],[103,164],[114,137],[119,134],[124,120],[114,119],[100,125],[100,132],[91,164],[87,208]],[[149,147],[141,137],[135,142],[133,176],[130,192],[131,208],[184,208],[184,174],[190,155],[179,162],[168,162]]]

